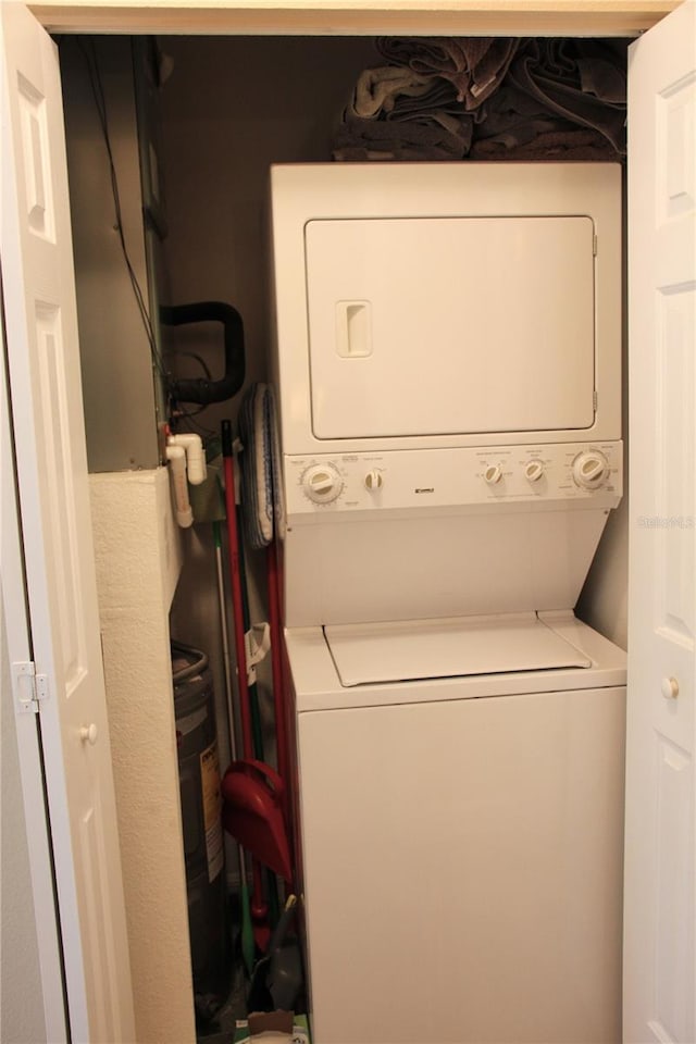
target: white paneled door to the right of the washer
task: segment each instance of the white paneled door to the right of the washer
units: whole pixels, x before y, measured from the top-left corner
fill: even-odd
[[[696,0],[629,66],[624,1040],[696,1040]]]

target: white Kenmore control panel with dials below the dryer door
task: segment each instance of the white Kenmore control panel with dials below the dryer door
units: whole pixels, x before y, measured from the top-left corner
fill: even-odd
[[[288,518],[345,512],[613,508],[621,442],[286,457]]]

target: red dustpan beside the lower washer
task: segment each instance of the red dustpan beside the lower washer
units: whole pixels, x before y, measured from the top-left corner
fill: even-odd
[[[277,772],[252,758],[233,761],[223,776],[221,791],[225,830],[259,862],[290,881],[283,781]]]

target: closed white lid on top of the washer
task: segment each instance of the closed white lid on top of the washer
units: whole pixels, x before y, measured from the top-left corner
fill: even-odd
[[[341,685],[592,667],[535,613],[324,627]]]

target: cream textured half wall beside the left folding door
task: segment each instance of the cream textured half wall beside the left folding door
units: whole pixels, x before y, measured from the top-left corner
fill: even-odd
[[[195,1041],[170,659],[181,569],[163,468],[90,476],[138,1044]]]

